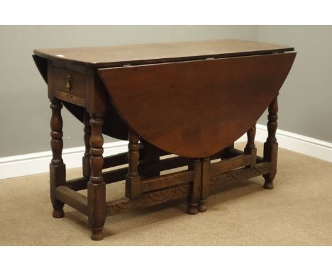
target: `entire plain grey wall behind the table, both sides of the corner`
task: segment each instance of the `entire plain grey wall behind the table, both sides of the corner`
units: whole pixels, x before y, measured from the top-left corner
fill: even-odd
[[[218,38],[294,46],[298,55],[280,92],[279,127],[332,142],[332,26],[0,26],[0,36],[0,157],[50,150],[49,101],[34,48]],[[63,118],[64,148],[83,145],[82,124],[66,110]],[[266,114],[259,123],[266,123]]]

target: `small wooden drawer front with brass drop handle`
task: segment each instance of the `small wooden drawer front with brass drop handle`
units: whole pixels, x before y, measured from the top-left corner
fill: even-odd
[[[86,106],[87,75],[65,68],[53,67],[52,92],[58,99]]]

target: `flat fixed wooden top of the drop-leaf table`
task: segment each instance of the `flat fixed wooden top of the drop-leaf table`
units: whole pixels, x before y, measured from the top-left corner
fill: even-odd
[[[94,67],[117,67],[208,57],[262,55],[293,51],[289,46],[260,43],[249,40],[204,40],[182,43],[151,43],[87,48],[36,49],[35,55],[48,60],[71,62]]]

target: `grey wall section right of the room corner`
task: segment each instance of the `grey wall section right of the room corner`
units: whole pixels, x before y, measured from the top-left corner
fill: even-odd
[[[279,128],[332,142],[332,26],[259,26],[258,40],[297,51],[278,98]]]

